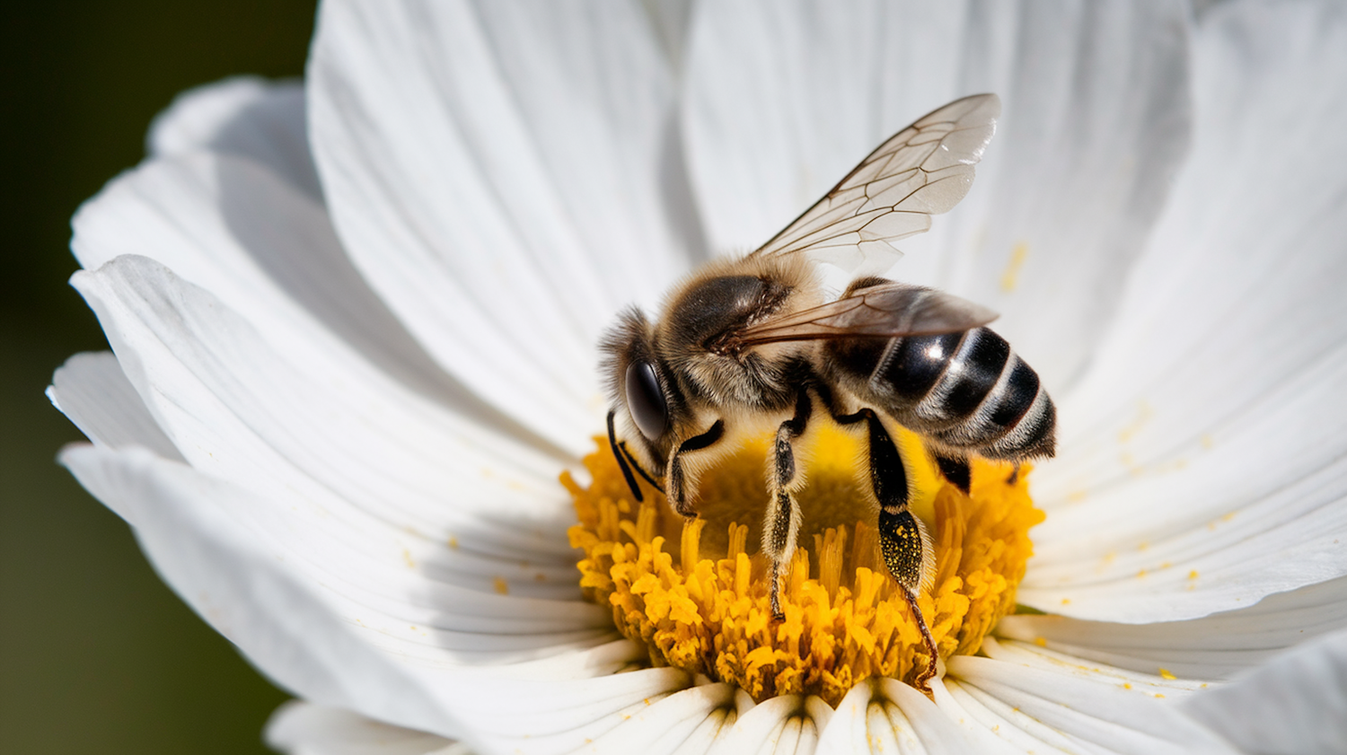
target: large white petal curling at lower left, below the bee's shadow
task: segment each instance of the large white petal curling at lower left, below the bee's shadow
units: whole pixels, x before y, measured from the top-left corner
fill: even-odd
[[[428,575],[400,583],[377,556],[333,542],[327,533],[310,537],[321,522],[296,511],[300,506],[277,507],[144,450],[75,445],[62,462],[132,524],[183,600],[277,684],[310,701],[489,751],[525,743],[567,751],[688,685],[675,669],[617,673],[644,658],[645,649],[602,642],[612,637],[606,611],[598,611],[605,626],[567,639],[547,628],[548,615],[558,618],[564,606],[481,595]],[[379,532],[366,537],[383,540]],[[541,631],[528,634],[527,624]],[[508,662],[540,650],[547,657]],[[704,709],[683,703],[652,711]],[[674,731],[684,725],[679,716],[660,720]],[[687,724],[690,733],[695,728]]]

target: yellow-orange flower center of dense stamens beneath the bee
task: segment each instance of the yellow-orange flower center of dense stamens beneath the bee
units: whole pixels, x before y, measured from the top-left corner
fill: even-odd
[[[570,540],[585,550],[581,588],[612,606],[618,631],[645,643],[651,663],[731,682],[757,701],[818,694],[832,705],[867,677],[911,684],[925,666],[921,633],[884,565],[877,511],[857,475],[863,440],[823,425],[808,450],[781,622],[772,620],[758,553],[768,439],[703,474],[691,521],[648,486],[634,505],[607,440],[595,440],[598,451],[585,458],[590,486],[562,475],[579,517]],[[1028,532],[1043,521],[1028,467],[1013,475],[1009,464],[973,460],[964,495],[939,476],[916,435],[901,431],[898,443],[915,483],[912,510],[935,541],[936,577],[919,599],[921,614],[942,657],[977,653],[1014,608],[1032,553]]]

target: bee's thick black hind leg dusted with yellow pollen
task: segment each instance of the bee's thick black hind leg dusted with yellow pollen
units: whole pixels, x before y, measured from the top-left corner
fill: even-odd
[[[921,631],[921,641],[925,645],[927,665],[917,672],[912,686],[925,696],[931,696],[931,678],[936,674],[936,662],[940,655],[927,627],[925,616],[917,604],[921,589],[931,581],[935,571],[935,549],[931,545],[931,536],[925,532],[912,510],[908,509],[908,474],[902,467],[902,456],[898,447],[889,437],[878,415],[872,409],[861,409],[854,415],[835,416],[839,424],[849,425],[865,421],[870,432],[870,489],[880,503],[880,552],[884,554],[884,564],[889,568],[894,581],[902,588],[912,608],[912,618],[916,619]]]

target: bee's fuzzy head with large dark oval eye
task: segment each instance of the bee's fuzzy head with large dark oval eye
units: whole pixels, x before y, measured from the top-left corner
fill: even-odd
[[[687,410],[678,382],[655,350],[653,335],[640,310],[625,310],[599,343],[599,371],[617,424],[614,444],[625,443],[647,471],[664,476],[675,427]],[[621,459],[617,448],[614,452]]]

